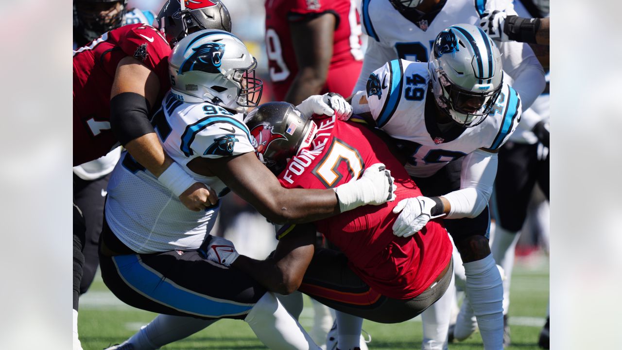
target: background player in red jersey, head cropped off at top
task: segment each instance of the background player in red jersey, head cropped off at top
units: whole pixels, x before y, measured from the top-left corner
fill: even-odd
[[[267,0],[266,50],[277,101],[349,96],[361,72],[361,24],[354,0]]]

